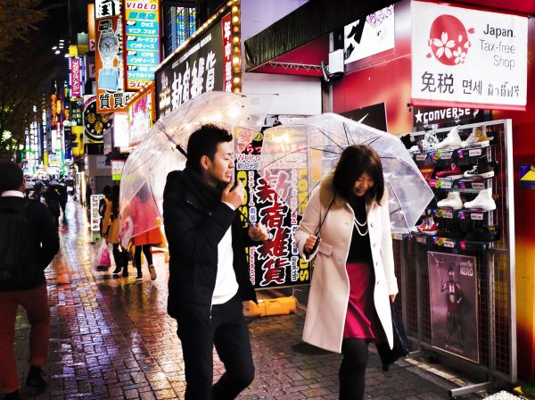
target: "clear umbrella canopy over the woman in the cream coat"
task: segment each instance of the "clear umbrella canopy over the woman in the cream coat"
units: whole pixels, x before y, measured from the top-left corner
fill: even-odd
[[[409,231],[432,200],[433,193],[406,147],[398,137],[387,132],[333,113],[267,129],[260,173],[268,180],[281,169],[302,168],[306,160],[310,194],[320,179],[333,170],[342,151],[350,145],[371,146],[379,154],[390,195],[391,229],[394,232]],[[304,210],[302,202],[292,201],[292,190],[277,193],[293,212]]]

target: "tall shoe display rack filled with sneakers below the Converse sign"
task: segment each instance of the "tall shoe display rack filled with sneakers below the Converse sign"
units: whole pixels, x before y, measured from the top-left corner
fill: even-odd
[[[412,132],[410,147],[435,198],[417,222],[413,229],[416,231],[392,235],[407,336],[413,349],[481,382],[451,389],[449,396],[463,396],[498,382],[514,382],[517,352],[512,121]],[[451,206],[440,207],[439,202]],[[481,209],[475,208],[480,204]],[[472,346],[477,349],[475,355],[466,355],[466,348],[442,346],[437,341],[438,334],[433,334],[433,329],[438,328],[433,325],[437,320],[432,319],[432,310],[443,306],[445,296],[438,295],[434,299],[438,305],[433,304],[431,292],[440,282],[436,281],[438,264],[430,260],[437,254],[467,257],[462,260],[474,262],[475,297],[471,303],[466,300],[463,307],[473,307],[476,312],[475,319],[464,322],[465,332],[473,332],[476,337],[476,345]],[[460,274],[459,262],[449,264],[456,276]],[[448,270],[440,271],[443,277],[447,276]]]

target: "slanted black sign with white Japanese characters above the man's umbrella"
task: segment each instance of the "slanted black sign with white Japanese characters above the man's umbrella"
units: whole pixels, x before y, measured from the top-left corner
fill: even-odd
[[[226,17],[230,18],[230,14]],[[216,21],[210,29],[190,40],[189,46],[170,57],[156,71],[158,118],[176,110],[190,98],[204,92],[225,89],[223,27],[223,20]]]

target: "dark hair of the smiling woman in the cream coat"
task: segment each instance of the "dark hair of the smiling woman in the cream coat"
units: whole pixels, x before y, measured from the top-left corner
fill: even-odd
[[[355,182],[364,172],[374,179],[374,186],[364,195],[366,203],[381,201],[384,193],[383,165],[379,154],[369,146],[353,145],[344,149],[334,170],[333,186],[336,194],[350,200]]]

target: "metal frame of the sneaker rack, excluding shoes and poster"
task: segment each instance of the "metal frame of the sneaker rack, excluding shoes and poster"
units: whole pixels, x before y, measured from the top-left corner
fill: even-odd
[[[487,155],[494,163],[495,176],[480,181],[430,181],[435,194],[457,190],[463,196],[475,196],[481,188],[491,187],[497,204],[494,211],[441,210],[431,205],[435,218],[447,226],[450,221],[498,225],[501,235],[496,241],[470,241],[464,238],[440,237],[423,234],[394,234],[396,273],[400,294],[397,306],[402,312],[407,336],[413,342],[416,354],[429,354],[438,362],[463,371],[477,383],[449,391],[449,396],[463,396],[496,386],[498,382],[515,382],[516,359],[516,303],[514,267],[514,195],[511,120],[459,125],[461,137],[467,137],[473,128],[483,126],[490,137],[490,146],[453,151],[416,154],[416,163],[437,162],[453,157],[461,167],[473,165],[478,156]],[[434,129],[439,139],[451,128]],[[424,132],[411,133],[423,137]],[[475,151],[473,151],[475,150]],[[479,153],[481,151],[481,154]],[[468,168],[469,169],[469,168]],[[444,185],[444,183],[446,183]],[[475,183],[475,185],[474,185]],[[437,187],[438,185],[438,187]],[[445,196],[445,195],[444,195]],[[433,202],[432,202],[433,204]],[[439,222],[440,223],[440,222]],[[477,327],[467,335],[477,334],[478,361],[468,360],[432,345],[432,304],[429,285],[428,252],[474,256],[477,260]],[[477,331],[475,330],[477,328]]]

